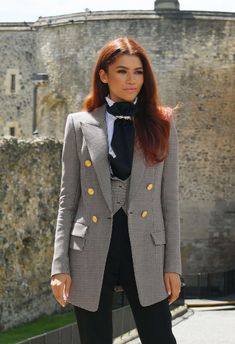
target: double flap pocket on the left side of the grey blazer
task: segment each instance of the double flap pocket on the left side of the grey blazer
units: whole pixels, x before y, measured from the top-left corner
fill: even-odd
[[[86,242],[88,226],[84,223],[75,222],[71,235],[69,247],[73,250],[82,251]]]

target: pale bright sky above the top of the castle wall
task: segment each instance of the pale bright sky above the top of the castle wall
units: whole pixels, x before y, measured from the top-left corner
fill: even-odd
[[[181,10],[235,12],[235,0],[179,0]],[[154,0],[0,0],[0,22],[105,10],[153,10]]]

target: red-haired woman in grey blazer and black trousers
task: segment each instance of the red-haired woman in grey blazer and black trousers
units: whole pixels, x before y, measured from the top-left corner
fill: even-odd
[[[101,49],[83,110],[65,126],[53,293],[74,306],[82,344],[112,343],[118,285],[141,342],[176,343],[169,304],[181,286],[177,133],[134,40]]]

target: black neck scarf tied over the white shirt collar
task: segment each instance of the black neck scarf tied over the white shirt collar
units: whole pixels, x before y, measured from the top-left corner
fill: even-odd
[[[107,103],[107,111],[116,117],[111,141],[116,156],[109,154],[109,163],[113,175],[125,180],[131,174],[135,141],[133,118],[137,112],[137,103],[116,102],[112,106]]]

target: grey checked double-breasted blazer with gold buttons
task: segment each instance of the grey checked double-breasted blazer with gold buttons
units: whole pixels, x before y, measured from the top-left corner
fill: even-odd
[[[67,117],[51,276],[68,273],[68,302],[96,311],[109,249],[113,209],[106,106]],[[166,298],[164,272],[181,274],[178,140],[171,121],[167,158],[146,166],[134,151],[128,227],[140,304]],[[152,184],[150,187],[149,184]]]

